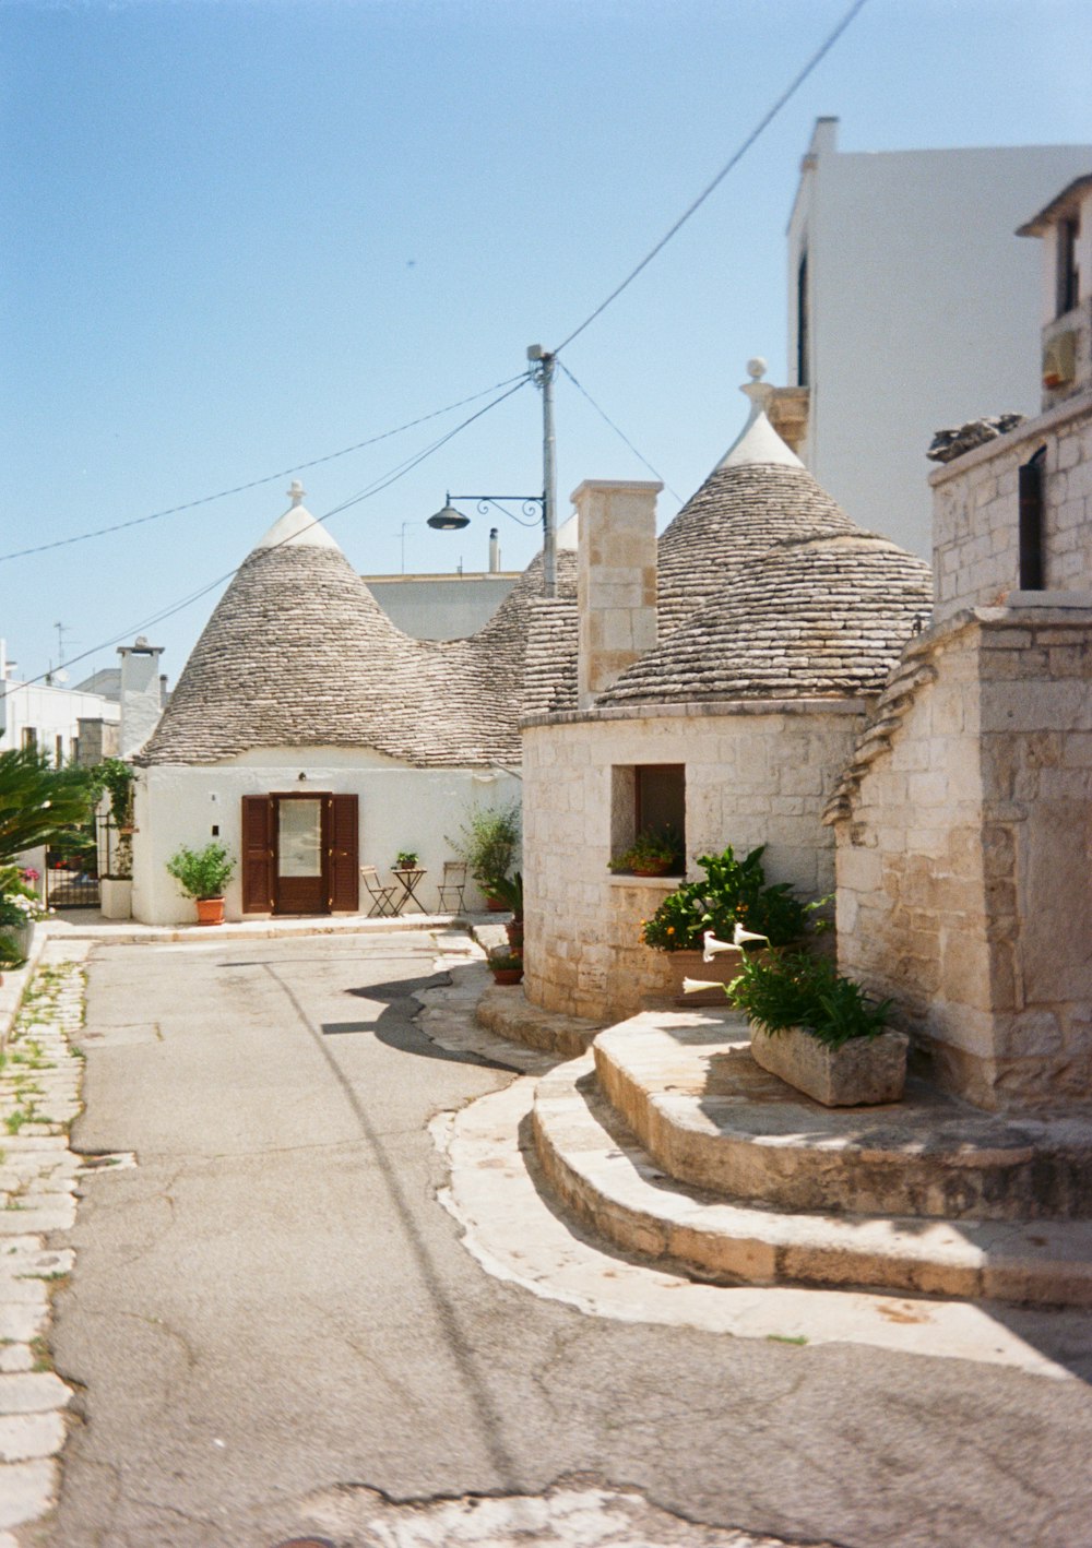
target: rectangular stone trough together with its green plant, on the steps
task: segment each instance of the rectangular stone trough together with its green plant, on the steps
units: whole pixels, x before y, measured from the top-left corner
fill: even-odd
[[[905,1033],[884,1031],[891,1000],[874,1000],[827,958],[743,957],[728,998],[751,1023],[751,1057],[824,1107],[897,1102]]]

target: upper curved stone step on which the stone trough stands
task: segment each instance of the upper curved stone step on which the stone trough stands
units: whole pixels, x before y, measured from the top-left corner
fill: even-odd
[[[599,1033],[599,1088],[671,1176],[774,1209],[925,1220],[1092,1214],[1092,1119],[984,1113],[909,1081],[827,1108],[761,1070],[733,1011],[635,1015]]]

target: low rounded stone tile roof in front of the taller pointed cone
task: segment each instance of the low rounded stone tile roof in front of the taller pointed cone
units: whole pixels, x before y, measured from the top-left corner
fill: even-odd
[[[878,692],[928,619],[931,571],[895,543],[847,525],[784,539],[736,570],[598,704]]]

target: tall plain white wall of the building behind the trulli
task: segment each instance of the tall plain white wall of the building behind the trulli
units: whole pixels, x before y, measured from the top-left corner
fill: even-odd
[[[1039,243],[1016,237],[1092,146],[840,153],[821,119],[788,226],[788,382],[809,254],[801,457],[869,531],[929,556],[937,429],[1039,410]]]

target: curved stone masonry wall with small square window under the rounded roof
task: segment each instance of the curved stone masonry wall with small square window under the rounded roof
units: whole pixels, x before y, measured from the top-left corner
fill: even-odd
[[[524,729],[528,998],[620,1020],[671,983],[640,927],[677,881],[610,875],[613,766],[686,765],[689,876],[699,854],[767,844],[768,879],[818,896],[833,885],[821,811],[861,718],[841,700],[536,717]]]

